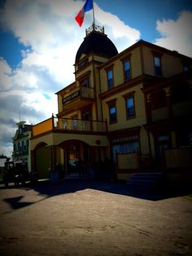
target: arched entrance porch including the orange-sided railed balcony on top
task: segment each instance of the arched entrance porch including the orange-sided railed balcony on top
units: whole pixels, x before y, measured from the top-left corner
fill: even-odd
[[[59,169],[77,176],[76,161],[84,161],[85,175],[98,169],[109,154],[107,126],[102,121],[85,121],[52,116],[33,126],[31,138],[32,170],[41,178]],[[49,171],[48,171],[49,170]]]

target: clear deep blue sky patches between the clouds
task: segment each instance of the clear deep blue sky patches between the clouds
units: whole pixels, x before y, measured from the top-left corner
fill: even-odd
[[[4,2],[6,1],[0,0],[0,7],[3,7]],[[190,0],[96,0],[94,2],[97,2],[104,11],[117,15],[125,23],[138,29],[141,32],[141,38],[149,42],[154,42],[155,38],[159,38],[156,30],[157,20],[177,20],[181,11],[192,11]],[[15,68],[16,64],[22,60],[20,51],[28,47],[18,42],[11,31],[3,27],[0,29],[0,56]]]

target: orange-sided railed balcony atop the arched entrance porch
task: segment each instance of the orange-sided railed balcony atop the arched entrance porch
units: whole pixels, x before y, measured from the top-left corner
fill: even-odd
[[[106,133],[107,122],[106,121],[94,121],[94,120],[82,120],[72,118],[61,118],[54,117],[42,121],[37,125],[33,126],[32,138],[45,135],[50,132],[61,132],[61,133]]]

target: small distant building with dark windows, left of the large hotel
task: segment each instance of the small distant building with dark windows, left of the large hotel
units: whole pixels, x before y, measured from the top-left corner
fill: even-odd
[[[13,161],[24,162],[31,170],[30,139],[32,125],[26,125],[25,121],[16,124],[18,129],[13,137]]]

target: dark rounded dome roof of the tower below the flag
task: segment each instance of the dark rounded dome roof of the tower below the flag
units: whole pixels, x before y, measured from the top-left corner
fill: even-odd
[[[89,33],[84,38],[84,41],[76,52],[76,62],[80,60],[82,54],[89,54],[90,52],[106,55],[108,58],[118,54],[116,46],[107,38],[107,35],[96,31]]]

